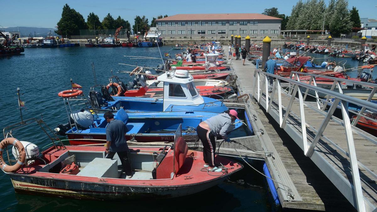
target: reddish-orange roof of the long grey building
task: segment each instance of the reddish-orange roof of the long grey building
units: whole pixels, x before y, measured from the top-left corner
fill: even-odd
[[[189,21],[189,20],[282,20],[259,13],[223,13],[223,14],[178,14],[156,21]]]

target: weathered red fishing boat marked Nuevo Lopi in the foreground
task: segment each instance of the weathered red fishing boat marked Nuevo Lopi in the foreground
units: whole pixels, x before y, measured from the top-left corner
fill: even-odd
[[[208,172],[203,168],[202,152],[189,150],[180,128],[172,143],[129,146],[131,178],[118,169],[121,163],[117,156],[104,158],[103,145],[54,143],[39,154],[35,144],[11,136],[1,144],[3,147],[14,145],[12,152],[17,159],[11,160],[8,154],[8,161],[13,161],[14,165],[5,164],[3,151],[7,150],[0,149],[0,166],[11,178],[15,191],[26,194],[122,201],[173,198],[216,186],[242,169],[242,164],[216,156],[215,161],[222,164],[222,171]]]

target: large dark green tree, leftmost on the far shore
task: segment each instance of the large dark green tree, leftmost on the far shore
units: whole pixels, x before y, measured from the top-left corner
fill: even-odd
[[[80,29],[87,29],[87,25],[83,15],[65,4],[57,28],[58,30],[55,33],[58,35],[80,35]]]

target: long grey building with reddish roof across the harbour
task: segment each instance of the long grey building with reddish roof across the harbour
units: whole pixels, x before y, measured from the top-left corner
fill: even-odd
[[[156,20],[164,38],[278,37],[281,18],[256,13],[178,14]]]

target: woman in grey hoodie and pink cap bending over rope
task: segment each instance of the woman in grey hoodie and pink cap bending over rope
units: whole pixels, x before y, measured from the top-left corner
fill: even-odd
[[[203,144],[204,167],[210,167],[208,171],[221,172],[220,167],[215,166],[215,137],[221,135],[222,139],[230,142],[227,131],[234,120],[238,119],[237,111],[230,110],[202,121],[196,132]]]

